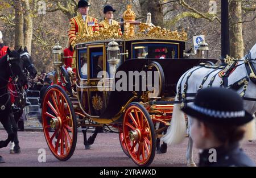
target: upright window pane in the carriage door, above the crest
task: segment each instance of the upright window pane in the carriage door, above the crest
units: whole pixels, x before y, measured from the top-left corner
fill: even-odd
[[[99,72],[104,70],[103,48],[90,49],[90,78],[101,78]]]

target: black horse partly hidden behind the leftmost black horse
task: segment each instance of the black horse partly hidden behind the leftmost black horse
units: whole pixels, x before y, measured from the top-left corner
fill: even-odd
[[[27,79],[35,78],[37,71],[34,67],[34,64],[32,63],[32,58],[27,51],[27,47],[24,47],[24,50],[22,50],[22,47],[20,47],[18,52],[20,53],[20,57],[23,62],[24,72],[27,76]],[[13,94],[15,95],[15,101],[14,101],[15,109],[13,110],[13,116],[14,116],[15,124],[18,124],[19,122],[23,122],[23,121],[19,121],[19,119],[23,114],[24,107],[27,106],[26,86],[15,85],[15,91],[13,91],[13,92],[14,92]],[[18,142],[18,136],[15,138],[15,140],[16,140],[16,142]],[[16,149],[14,149],[14,148],[16,148]],[[19,154],[20,153],[20,148],[15,147],[15,143],[13,143],[13,142],[11,143],[11,146],[10,146],[10,153],[11,154]]]

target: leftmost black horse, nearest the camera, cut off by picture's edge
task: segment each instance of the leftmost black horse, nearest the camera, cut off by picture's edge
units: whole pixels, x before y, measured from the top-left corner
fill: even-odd
[[[10,77],[12,80],[9,80]],[[17,51],[10,51],[8,48],[7,54],[0,59],[0,122],[8,134],[6,140],[0,141],[0,148],[7,147],[10,142],[16,142],[14,138],[18,130],[13,118],[10,92],[8,90],[10,81],[16,81],[18,86],[27,84],[27,77],[23,71],[20,54]]]

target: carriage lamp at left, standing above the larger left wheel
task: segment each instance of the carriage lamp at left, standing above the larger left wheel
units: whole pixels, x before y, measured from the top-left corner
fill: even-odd
[[[52,49],[53,53],[53,65],[55,66],[55,69],[57,71],[57,81],[61,82],[60,80],[60,68],[63,65],[63,47],[59,45],[59,42],[57,42],[57,45],[55,45]]]

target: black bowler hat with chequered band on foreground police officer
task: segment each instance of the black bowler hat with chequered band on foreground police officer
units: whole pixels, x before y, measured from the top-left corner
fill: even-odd
[[[231,89],[207,88],[200,90],[195,103],[181,109],[202,122],[241,126],[253,120],[243,109],[240,95]]]

